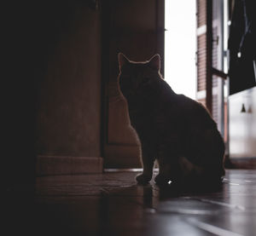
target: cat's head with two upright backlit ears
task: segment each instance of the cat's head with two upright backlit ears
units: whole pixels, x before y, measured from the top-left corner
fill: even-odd
[[[154,99],[159,93],[160,55],[136,62],[119,53],[119,89],[126,100]]]

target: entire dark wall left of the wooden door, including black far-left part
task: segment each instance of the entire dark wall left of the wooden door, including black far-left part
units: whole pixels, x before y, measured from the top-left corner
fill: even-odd
[[[94,1],[5,6],[3,176],[35,179],[36,157],[100,157],[100,14]]]

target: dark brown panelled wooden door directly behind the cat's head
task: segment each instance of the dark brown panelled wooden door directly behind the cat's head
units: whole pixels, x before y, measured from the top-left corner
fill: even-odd
[[[102,1],[103,2],[103,1]],[[105,168],[139,168],[137,135],[119,94],[118,53],[131,60],[164,58],[164,1],[112,0],[102,3],[102,79]],[[163,68],[162,68],[163,71]]]

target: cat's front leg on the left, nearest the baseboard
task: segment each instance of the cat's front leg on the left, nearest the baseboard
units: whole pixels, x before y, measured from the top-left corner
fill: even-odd
[[[154,155],[147,146],[142,145],[142,164],[143,173],[136,177],[136,180],[140,184],[147,184],[151,181],[154,167]]]

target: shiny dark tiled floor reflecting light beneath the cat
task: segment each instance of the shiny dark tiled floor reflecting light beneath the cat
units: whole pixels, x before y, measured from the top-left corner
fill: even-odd
[[[9,192],[2,235],[256,235],[256,170],[195,190],[137,186],[136,175],[38,177],[35,196]]]

